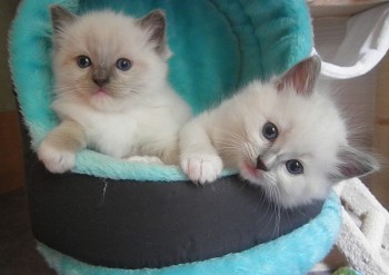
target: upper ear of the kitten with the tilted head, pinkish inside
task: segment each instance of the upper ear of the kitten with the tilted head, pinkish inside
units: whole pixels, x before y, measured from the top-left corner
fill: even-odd
[[[310,96],[319,77],[320,68],[321,61],[318,56],[307,58],[295,65],[276,82],[277,89],[281,91],[285,87],[290,87],[298,95]]]

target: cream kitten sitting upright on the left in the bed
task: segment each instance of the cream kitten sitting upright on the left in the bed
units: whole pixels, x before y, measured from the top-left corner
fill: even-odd
[[[190,109],[167,82],[164,13],[134,19],[104,10],[78,17],[60,6],[50,12],[51,107],[61,122],[38,148],[46,167],[71,169],[86,147],[116,158],[157,156],[178,164],[178,130]]]

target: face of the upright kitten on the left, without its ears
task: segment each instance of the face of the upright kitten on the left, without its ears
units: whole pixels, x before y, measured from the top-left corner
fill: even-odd
[[[150,24],[110,11],[62,17],[60,23],[53,56],[57,96],[120,111],[163,84],[168,56],[150,41]]]

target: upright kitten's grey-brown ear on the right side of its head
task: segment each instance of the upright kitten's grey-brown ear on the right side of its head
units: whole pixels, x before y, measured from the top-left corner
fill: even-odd
[[[156,51],[163,58],[169,58],[171,52],[166,41],[167,22],[164,12],[162,10],[153,10],[139,19],[139,24],[150,33],[149,41],[156,45]]]

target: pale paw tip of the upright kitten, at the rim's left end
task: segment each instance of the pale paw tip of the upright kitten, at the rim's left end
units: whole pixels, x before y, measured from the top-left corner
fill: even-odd
[[[60,150],[44,141],[38,148],[38,158],[51,173],[64,173],[73,168],[76,164],[74,153]]]

